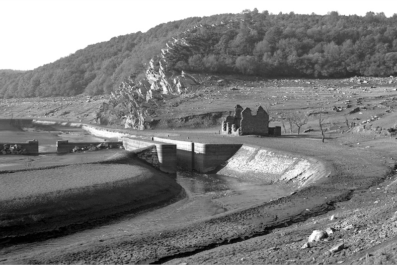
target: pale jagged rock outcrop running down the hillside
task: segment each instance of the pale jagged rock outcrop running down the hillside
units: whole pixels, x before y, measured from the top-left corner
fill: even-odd
[[[202,82],[198,74],[188,74],[181,71],[176,74],[167,71],[168,57],[176,53],[176,47],[188,46],[185,41],[174,39],[167,44],[167,49],[161,52],[158,65],[152,59],[146,71],[146,77],[134,82],[131,75],[122,82],[119,88],[111,93],[109,103],[103,103],[96,115],[95,121],[99,124],[122,124],[125,128],[143,130],[147,128],[146,119],[155,115],[159,108],[168,99],[196,89]]]

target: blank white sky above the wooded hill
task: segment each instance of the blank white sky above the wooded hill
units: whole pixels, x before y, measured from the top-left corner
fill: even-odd
[[[397,13],[397,0],[0,0],[0,69],[31,70],[112,37],[243,9]],[[396,25],[397,26],[397,25]]]

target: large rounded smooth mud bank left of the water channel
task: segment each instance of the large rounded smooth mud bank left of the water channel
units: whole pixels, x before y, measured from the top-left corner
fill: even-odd
[[[1,241],[73,232],[165,203],[182,189],[123,152],[96,163],[0,172]]]

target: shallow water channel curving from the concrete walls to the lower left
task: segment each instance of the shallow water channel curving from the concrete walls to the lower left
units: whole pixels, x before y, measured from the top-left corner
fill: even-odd
[[[127,215],[112,224],[69,236],[6,248],[0,251],[0,258],[31,251],[49,251],[61,246],[103,238],[161,231],[223,213],[228,209],[263,203],[287,194],[287,191],[277,186],[240,182],[233,177],[216,174],[180,171],[176,181],[185,189],[185,199],[149,212]]]

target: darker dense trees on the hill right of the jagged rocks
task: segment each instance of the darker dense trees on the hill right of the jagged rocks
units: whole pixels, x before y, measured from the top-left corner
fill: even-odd
[[[241,20],[181,35],[173,69],[264,77],[389,76],[397,73],[397,14],[366,16],[246,11]],[[203,45],[205,44],[205,45]],[[190,52],[189,52],[190,50]]]

